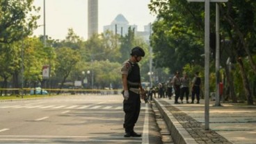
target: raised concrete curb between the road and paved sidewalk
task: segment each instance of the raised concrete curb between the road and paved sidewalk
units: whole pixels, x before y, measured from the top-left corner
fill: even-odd
[[[171,114],[164,105],[162,105],[159,100],[154,98],[154,102],[166,121],[170,134],[175,143],[179,144],[197,144],[194,138],[180,125],[179,121]]]

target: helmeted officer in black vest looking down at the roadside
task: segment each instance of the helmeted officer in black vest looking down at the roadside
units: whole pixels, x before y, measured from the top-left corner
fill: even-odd
[[[122,87],[123,109],[125,111],[125,137],[141,137],[141,134],[134,132],[134,125],[138,120],[141,110],[141,97],[145,96],[145,91],[141,87],[141,74],[138,62],[145,56],[145,52],[139,46],[132,48],[131,57],[122,64]]]

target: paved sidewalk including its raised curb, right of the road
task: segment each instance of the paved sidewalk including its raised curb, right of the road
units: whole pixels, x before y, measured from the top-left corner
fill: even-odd
[[[209,105],[209,130],[205,130],[205,103],[174,104],[168,98],[154,98],[177,144],[256,143],[256,106],[222,103]]]

